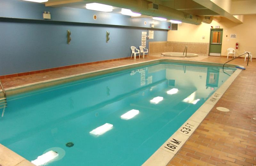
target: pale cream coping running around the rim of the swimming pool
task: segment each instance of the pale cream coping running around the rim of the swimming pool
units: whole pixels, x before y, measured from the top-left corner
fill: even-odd
[[[134,67],[140,67],[142,65],[148,65],[153,63],[161,63],[161,62],[178,62],[178,63],[189,63],[189,64],[205,64],[205,65],[213,65],[213,66],[222,66],[223,64],[219,63],[210,63],[210,62],[198,62],[198,61],[183,61],[183,60],[173,60],[173,59],[157,59],[157,60],[150,60],[147,62],[139,62],[134,64],[127,64],[127,65],[121,65],[116,67],[111,67],[107,69],[102,70],[96,70],[92,72],[85,72],[65,77],[60,77],[57,79],[49,79],[45,81],[39,81],[36,83],[31,84],[25,84],[21,86],[6,88],[6,94],[7,96],[12,96],[28,91],[34,91],[38,90],[43,87],[52,86],[56,84],[61,84],[69,81],[75,81],[78,79],[84,79],[89,78],[93,76],[98,76],[101,74],[107,74],[109,72],[117,72],[120,70],[125,70],[129,68]],[[226,64],[227,67],[234,67],[234,66],[240,66],[236,64]],[[118,69],[118,70],[116,70]],[[103,72],[103,73],[102,73]],[[219,101],[221,96],[226,92],[228,87],[232,84],[232,82],[236,79],[236,77],[240,74],[241,70],[236,70],[216,91],[212,96],[204,102],[204,104],[196,110],[196,112],[161,146],[159,149],[156,150],[156,152],[151,155],[146,162],[142,164],[142,166],[166,166],[172,158],[178,153],[180,148],[185,144],[185,142],[189,139],[189,137],[193,134],[193,132],[196,130],[196,128],[201,124],[201,122],[204,120],[204,118],[208,115],[208,113],[211,111],[211,109],[214,107],[214,105]],[[2,93],[1,93],[2,94]],[[186,128],[186,129],[184,129]],[[187,130],[189,129],[189,131]],[[0,164],[6,164],[10,166],[35,166],[33,163],[29,162],[28,160],[24,159],[20,155],[16,154],[12,150],[8,149],[7,147],[4,147],[2,144],[0,144],[0,153],[5,154],[3,158],[1,157],[1,160],[4,163]],[[10,164],[9,162],[13,163]],[[14,164],[15,162],[15,164]]]

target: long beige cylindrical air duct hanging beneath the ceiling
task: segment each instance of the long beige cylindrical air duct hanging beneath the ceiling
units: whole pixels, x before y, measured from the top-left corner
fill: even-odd
[[[189,24],[200,25],[202,22],[202,18],[198,16],[193,16],[189,13],[185,13],[183,11],[178,11],[176,9],[161,5],[155,4],[158,6],[158,10],[154,8],[154,4],[147,0],[90,0],[92,2],[97,2],[100,4],[108,4],[111,6],[116,6],[120,8],[130,9],[133,12],[141,13],[147,16],[153,17],[163,17],[170,20],[179,20]],[[150,8],[152,4],[152,8]],[[189,18],[187,19],[187,16]]]

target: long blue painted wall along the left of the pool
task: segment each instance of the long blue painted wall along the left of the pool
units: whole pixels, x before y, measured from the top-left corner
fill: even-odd
[[[43,19],[44,11],[51,12],[51,20]],[[129,57],[130,47],[141,45],[142,32],[154,30],[154,39],[146,41],[148,48],[149,41],[167,41],[168,26],[168,22],[120,14],[1,0],[0,75]]]

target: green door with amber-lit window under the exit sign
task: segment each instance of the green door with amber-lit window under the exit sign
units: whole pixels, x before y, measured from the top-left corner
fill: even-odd
[[[220,56],[223,29],[211,29],[210,56]]]

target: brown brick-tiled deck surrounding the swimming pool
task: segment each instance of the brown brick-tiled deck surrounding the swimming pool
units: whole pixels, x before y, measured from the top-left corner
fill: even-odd
[[[1,79],[4,88],[13,88],[25,84],[57,79],[84,72],[92,72],[121,65],[134,64],[167,57],[124,59],[99,64],[89,64],[50,72]],[[225,63],[227,57],[172,58],[201,62]],[[228,60],[230,60],[229,58]],[[256,60],[249,66],[244,58],[237,58],[228,64],[245,66],[209,114],[199,124],[178,153],[167,166],[256,166]],[[228,108],[229,112],[217,110]],[[0,144],[0,165],[30,165],[22,157]],[[164,157],[164,156],[163,156]],[[33,165],[33,164],[32,164]],[[155,163],[152,165],[156,165]],[[156,165],[157,166],[157,165]]]

